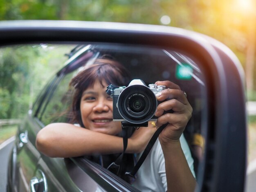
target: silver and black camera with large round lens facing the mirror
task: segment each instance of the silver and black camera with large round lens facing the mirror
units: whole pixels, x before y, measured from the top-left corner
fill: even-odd
[[[127,122],[135,127],[147,126],[148,121],[157,121],[154,114],[157,105],[162,102],[157,100],[155,94],[164,89],[165,86],[156,84],[147,87],[140,79],[132,80],[128,87],[110,89],[113,98],[113,121]]]

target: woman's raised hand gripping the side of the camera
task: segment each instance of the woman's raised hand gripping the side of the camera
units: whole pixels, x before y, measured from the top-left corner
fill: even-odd
[[[178,85],[171,81],[157,81],[157,85],[165,85],[166,89],[156,95],[157,100],[163,101],[157,106],[155,116],[158,117],[156,126],[160,127],[166,123],[168,125],[159,135],[161,143],[170,143],[179,141],[186,124],[192,115],[192,107],[186,98],[184,92]],[[165,111],[173,110],[173,112]]]

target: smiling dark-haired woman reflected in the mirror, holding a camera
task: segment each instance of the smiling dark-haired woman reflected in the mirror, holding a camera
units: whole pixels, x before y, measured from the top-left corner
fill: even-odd
[[[38,150],[51,157],[122,152],[123,140],[119,137],[121,123],[112,121],[112,98],[106,94],[106,87],[109,84],[128,85],[129,82],[126,69],[110,59],[98,59],[88,69],[80,72],[70,83],[75,88],[72,124],[52,123],[41,129],[36,138]],[[165,169],[161,173],[162,181],[157,183],[163,184],[163,190],[193,191],[195,179],[182,150],[182,145],[187,144],[186,141],[180,140],[191,117],[192,107],[179,86],[170,81],[157,81],[156,84],[165,85],[167,88],[156,95],[157,100],[164,101],[167,98],[168,100],[157,107],[156,126],[149,124],[149,127],[140,127],[128,138],[126,153],[142,152],[156,127],[168,123],[156,143],[158,148],[162,147],[159,155],[162,155],[167,162],[164,163]],[[163,114],[170,109],[174,112]],[[80,127],[73,123],[78,123]],[[147,159],[145,162],[148,161]],[[150,162],[150,164],[157,164],[157,162]],[[138,175],[141,175],[141,170]],[[150,174],[155,180],[159,179],[153,172]],[[145,182],[137,179],[134,185],[140,190],[150,190],[143,183]]]

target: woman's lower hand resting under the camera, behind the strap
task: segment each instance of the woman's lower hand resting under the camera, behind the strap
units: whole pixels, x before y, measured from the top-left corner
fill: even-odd
[[[157,128],[152,122],[148,122],[148,127],[139,127],[128,139],[128,153],[139,153],[145,150],[148,142],[155,133]]]

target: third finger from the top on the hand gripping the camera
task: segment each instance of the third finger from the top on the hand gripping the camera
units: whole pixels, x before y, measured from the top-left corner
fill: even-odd
[[[159,117],[164,114],[164,111],[173,110],[173,112],[184,113],[191,112],[189,107],[178,101],[177,99],[166,100],[157,106],[155,116]]]

